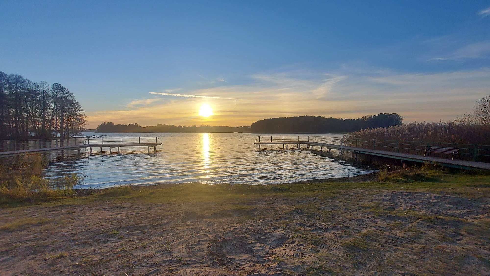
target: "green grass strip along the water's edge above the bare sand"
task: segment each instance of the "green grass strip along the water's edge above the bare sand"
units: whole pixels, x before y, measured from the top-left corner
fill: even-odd
[[[76,179],[67,182],[78,181]],[[466,187],[480,188],[477,191],[468,191]],[[18,207],[39,202],[57,201],[56,204],[80,204],[97,200],[132,200],[151,203],[185,201],[221,201],[240,205],[246,200],[268,197],[284,196],[289,198],[307,196],[328,196],[331,192],[345,189],[403,189],[426,191],[451,191],[454,193],[473,193],[470,196],[482,196],[481,192],[490,188],[490,175],[485,172],[457,172],[451,173],[436,166],[422,166],[388,170],[379,172],[377,179],[367,182],[323,182],[306,184],[166,184],[161,186],[118,186],[96,190],[85,196],[77,196],[70,189],[44,189],[27,191],[27,188],[12,186],[0,191],[0,205],[3,207]],[[25,195],[23,195],[23,193]],[[239,210],[244,208],[244,210]],[[321,212],[318,206],[298,206],[306,214],[314,215]],[[233,215],[243,212],[246,207],[237,207],[238,210],[223,210],[220,215]]]

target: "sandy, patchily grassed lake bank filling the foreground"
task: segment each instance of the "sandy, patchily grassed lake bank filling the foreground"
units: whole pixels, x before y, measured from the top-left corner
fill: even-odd
[[[490,176],[126,186],[0,210],[5,275],[482,275]]]

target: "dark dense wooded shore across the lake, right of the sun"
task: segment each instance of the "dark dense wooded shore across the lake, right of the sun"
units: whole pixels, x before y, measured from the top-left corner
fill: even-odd
[[[351,132],[368,128],[386,128],[403,124],[403,117],[396,113],[366,115],[358,119],[322,116],[295,116],[258,120],[251,125],[253,133],[335,133]]]

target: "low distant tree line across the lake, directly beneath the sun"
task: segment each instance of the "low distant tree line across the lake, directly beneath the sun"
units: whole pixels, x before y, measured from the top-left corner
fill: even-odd
[[[140,126],[133,124],[114,124],[113,122],[103,122],[97,127],[98,133],[213,133],[213,132],[250,132],[250,127],[229,127],[229,126],[176,126],[157,124],[156,126]]]

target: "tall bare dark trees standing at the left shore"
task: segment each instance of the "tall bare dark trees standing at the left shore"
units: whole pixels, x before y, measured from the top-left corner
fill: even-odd
[[[81,134],[80,103],[59,83],[33,82],[0,71],[0,139],[54,138]]]

